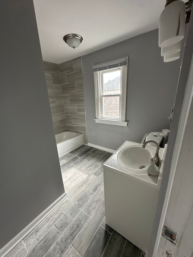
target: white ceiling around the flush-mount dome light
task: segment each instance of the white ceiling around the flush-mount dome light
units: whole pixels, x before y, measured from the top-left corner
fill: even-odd
[[[44,61],[62,63],[158,28],[166,0],[33,0]],[[64,35],[83,41],[69,47]]]

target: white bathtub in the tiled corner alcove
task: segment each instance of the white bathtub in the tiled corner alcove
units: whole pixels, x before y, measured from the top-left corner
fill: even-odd
[[[83,135],[75,132],[62,132],[55,135],[55,140],[58,149],[58,155],[62,155],[74,150],[83,144]]]

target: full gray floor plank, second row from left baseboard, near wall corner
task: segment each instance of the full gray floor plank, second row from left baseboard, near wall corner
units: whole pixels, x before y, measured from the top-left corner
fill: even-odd
[[[88,189],[79,197],[79,199],[68,209],[67,212],[56,222],[55,226],[64,232],[72,220],[78,215],[84,205],[89,201],[93,196],[93,193]]]

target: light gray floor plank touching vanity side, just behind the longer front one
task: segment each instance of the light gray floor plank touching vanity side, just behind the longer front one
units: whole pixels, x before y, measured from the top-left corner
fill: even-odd
[[[102,184],[100,188],[94,193],[94,195],[90,198],[87,204],[84,206],[83,211],[86,212],[89,216],[95,211],[97,205],[100,204],[101,200],[104,197],[104,185]]]

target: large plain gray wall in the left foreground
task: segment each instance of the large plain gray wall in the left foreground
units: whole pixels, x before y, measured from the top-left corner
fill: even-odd
[[[2,248],[61,196],[64,186],[33,1],[2,0],[0,10]]]

